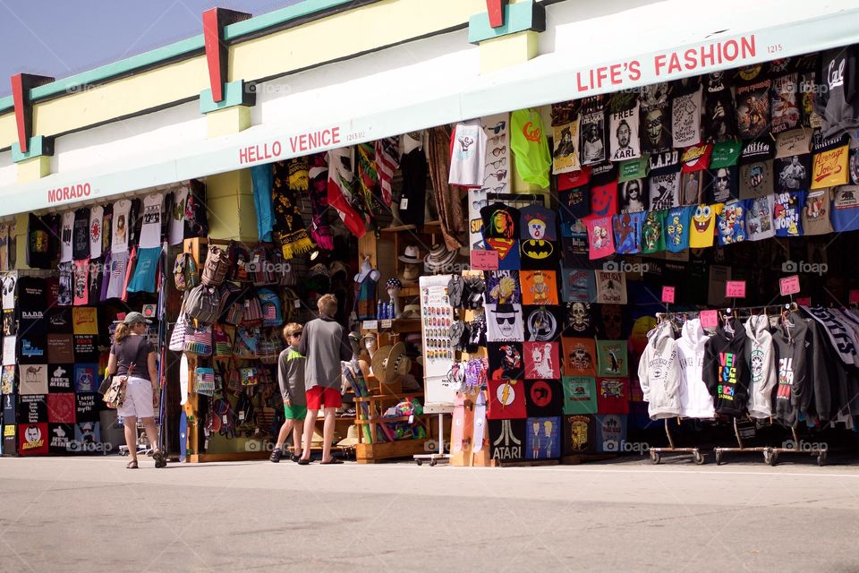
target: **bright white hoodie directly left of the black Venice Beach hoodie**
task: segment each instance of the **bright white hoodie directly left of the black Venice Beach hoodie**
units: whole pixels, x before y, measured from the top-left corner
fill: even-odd
[[[677,362],[680,365],[680,413],[686,418],[712,418],[713,397],[702,379],[704,346],[710,338],[701,321],[686,321],[677,339]]]

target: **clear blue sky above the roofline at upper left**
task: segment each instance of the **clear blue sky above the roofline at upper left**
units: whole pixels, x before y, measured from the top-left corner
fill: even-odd
[[[299,0],[0,0],[0,96],[9,77],[57,79],[202,33],[214,6],[253,15]]]

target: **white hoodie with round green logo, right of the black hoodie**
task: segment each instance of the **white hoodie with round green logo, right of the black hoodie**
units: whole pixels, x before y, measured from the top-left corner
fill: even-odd
[[[762,314],[745,321],[745,355],[749,361],[749,415],[769,418],[772,415],[772,390],[778,382],[775,351],[769,331],[770,319]]]

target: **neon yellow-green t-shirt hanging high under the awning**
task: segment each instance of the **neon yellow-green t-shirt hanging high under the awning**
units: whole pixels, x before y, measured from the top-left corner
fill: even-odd
[[[549,187],[552,158],[539,111],[528,108],[510,114],[510,148],[523,181],[541,188]]]

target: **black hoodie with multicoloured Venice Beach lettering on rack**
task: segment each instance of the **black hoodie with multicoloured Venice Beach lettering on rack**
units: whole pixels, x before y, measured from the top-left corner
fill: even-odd
[[[731,317],[716,328],[704,346],[702,378],[713,397],[716,414],[739,416],[745,412],[749,398],[745,339],[743,325]]]

